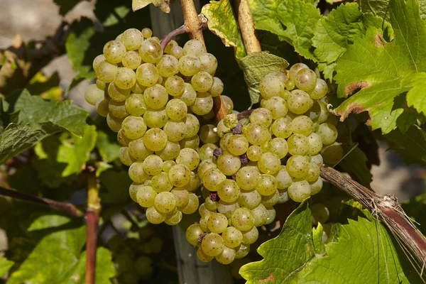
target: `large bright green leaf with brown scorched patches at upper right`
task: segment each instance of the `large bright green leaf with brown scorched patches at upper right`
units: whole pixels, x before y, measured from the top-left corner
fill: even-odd
[[[341,120],[351,112],[368,111],[373,129],[389,133],[397,127],[404,108],[395,108],[394,99],[410,90],[406,78],[426,71],[425,22],[415,0],[391,0],[390,19],[395,39],[386,43],[380,31],[368,28],[367,38],[356,40],[337,60],[339,97],[349,97],[339,107]],[[404,84],[405,83],[405,84]],[[357,89],[361,89],[353,94]],[[416,94],[418,92],[415,92]],[[414,104],[420,111],[421,104]]]

